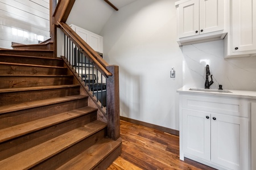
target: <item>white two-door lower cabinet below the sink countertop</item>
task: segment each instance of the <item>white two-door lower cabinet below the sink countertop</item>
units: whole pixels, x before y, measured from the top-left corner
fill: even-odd
[[[180,159],[217,169],[249,168],[249,102],[180,95]]]

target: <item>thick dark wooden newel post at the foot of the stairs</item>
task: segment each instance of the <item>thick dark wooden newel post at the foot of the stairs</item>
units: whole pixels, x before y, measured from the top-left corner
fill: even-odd
[[[116,141],[120,137],[119,67],[116,65],[110,65],[107,66],[106,69],[112,73],[112,76],[106,78],[108,136]]]

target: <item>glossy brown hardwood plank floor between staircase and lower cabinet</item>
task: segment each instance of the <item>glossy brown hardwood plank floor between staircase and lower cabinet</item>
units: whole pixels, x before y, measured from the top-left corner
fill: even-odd
[[[120,121],[122,154],[112,169],[207,169],[214,168],[179,159],[179,137],[159,130]]]

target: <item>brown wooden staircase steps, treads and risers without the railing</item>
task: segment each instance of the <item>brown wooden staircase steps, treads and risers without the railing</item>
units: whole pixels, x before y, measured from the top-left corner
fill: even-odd
[[[121,142],[106,138],[97,108],[44,46],[0,49],[1,169],[108,168]]]

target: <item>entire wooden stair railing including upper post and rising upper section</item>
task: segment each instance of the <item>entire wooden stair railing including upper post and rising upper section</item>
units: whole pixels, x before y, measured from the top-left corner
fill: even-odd
[[[59,27],[65,35],[65,60],[69,66],[75,67],[76,73],[84,81],[88,94],[93,96],[101,95],[101,99],[96,96],[96,104],[100,101],[98,108],[106,109],[106,119],[108,120],[108,137],[117,140],[120,137],[119,123],[119,68],[116,65],[109,65],[97,52],[95,52],[69,25],[65,24],[68,14],[71,11],[75,0],[50,0],[51,3],[51,36],[55,43],[56,50],[56,28]],[[68,11],[68,12],[67,12]],[[67,14],[68,13],[68,14]],[[54,27],[54,28],[53,28]],[[96,76],[94,76],[96,75]],[[96,83],[96,90],[90,87],[91,82]],[[102,90],[97,87],[106,88],[106,101],[104,103]],[[105,87],[103,87],[105,86]],[[101,92],[100,92],[101,91]],[[105,107],[106,106],[106,107]]]

